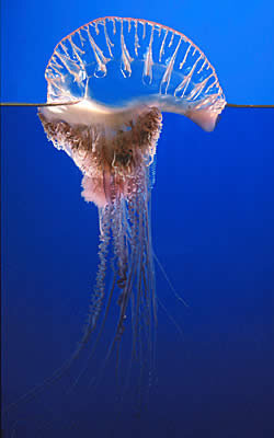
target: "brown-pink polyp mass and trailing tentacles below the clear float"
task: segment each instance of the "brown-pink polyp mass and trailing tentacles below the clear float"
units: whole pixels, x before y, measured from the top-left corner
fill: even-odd
[[[99,207],[99,268],[77,355],[98,328],[100,316],[105,321],[112,296],[116,295],[117,324],[105,361],[115,346],[119,349],[130,316],[132,361],[138,360],[142,373],[152,366],[157,323],[149,203],[155,178],[150,164],[161,130],[161,113],[156,107],[141,106],[126,115],[123,123],[111,126],[103,122],[72,125],[47,119],[42,113],[39,118],[48,138],[58,149],[66,150],[82,171],[83,197]],[[110,270],[114,280],[107,298]]]

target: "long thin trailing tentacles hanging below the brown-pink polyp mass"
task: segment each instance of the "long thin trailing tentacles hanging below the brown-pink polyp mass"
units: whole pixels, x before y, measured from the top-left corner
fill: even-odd
[[[132,178],[132,186],[134,189],[128,197],[117,197],[100,210],[100,240],[105,242],[110,235],[112,237],[113,268],[116,273],[116,293],[119,306],[114,338],[105,360],[114,347],[119,348],[125,325],[127,321],[132,321],[132,359],[138,360],[140,371],[144,372],[145,369],[149,371],[152,367],[153,332],[157,324],[148,168],[138,169]],[[94,295],[100,290],[102,301],[105,290],[105,263],[106,258],[101,247]],[[91,315],[99,316],[96,306],[91,307]],[[92,320],[90,322],[92,323]],[[92,324],[87,330],[92,331]]]

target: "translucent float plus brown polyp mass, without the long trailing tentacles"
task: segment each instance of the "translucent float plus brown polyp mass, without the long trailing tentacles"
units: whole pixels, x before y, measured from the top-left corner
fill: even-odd
[[[48,102],[80,100],[43,107],[39,117],[54,145],[84,173],[83,196],[99,207],[110,200],[111,170],[119,174],[116,193],[125,194],[133,168],[153,160],[161,112],[213,130],[226,104],[203,51],[185,35],[145,20],[110,16],[79,27],[56,46],[45,76]]]

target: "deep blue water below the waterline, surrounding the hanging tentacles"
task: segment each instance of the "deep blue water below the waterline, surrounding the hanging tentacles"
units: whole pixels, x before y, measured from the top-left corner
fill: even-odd
[[[207,134],[163,115],[153,245],[189,308],[158,269],[157,293],[183,336],[159,308],[149,403],[137,415],[117,403],[112,359],[96,391],[87,388],[91,365],[72,395],[65,395],[65,378],[12,410],[4,437],[12,427],[13,438],[274,436],[273,117],[272,110],[226,110]],[[2,108],[1,127],[9,404],[50,376],[80,339],[99,230],[96,208],[80,196],[80,171],[47,141],[36,110]],[[44,422],[52,422],[48,430]]]

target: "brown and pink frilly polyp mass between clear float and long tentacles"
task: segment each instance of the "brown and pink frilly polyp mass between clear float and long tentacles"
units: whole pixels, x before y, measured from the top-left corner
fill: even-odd
[[[113,110],[92,101],[38,115],[48,139],[82,171],[84,199],[98,207],[137,189],[135,176],[153,160],[162,119],[157,107]]]

